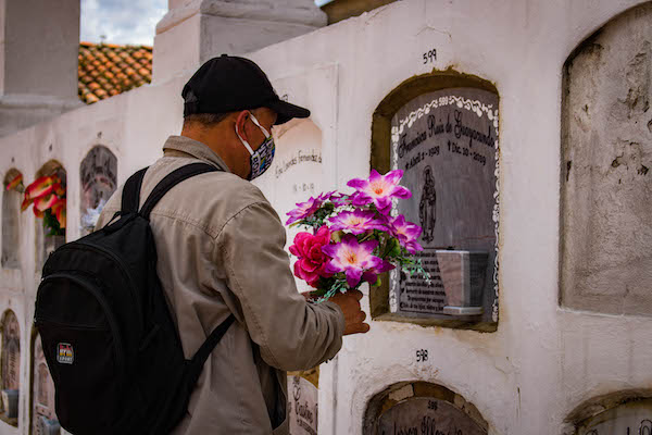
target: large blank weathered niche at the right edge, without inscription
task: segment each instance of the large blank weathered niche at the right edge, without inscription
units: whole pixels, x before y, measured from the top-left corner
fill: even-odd
[[[624,12],[563,69],[561,302],[652,314],[652,3]]]

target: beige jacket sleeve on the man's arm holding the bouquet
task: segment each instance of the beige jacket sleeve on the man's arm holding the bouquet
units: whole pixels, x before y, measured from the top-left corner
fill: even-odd
[[[285,241],[272,206],[256,202],[224,225],[216,249],[262,358],[279,370],[306,370],[339,351],[344,318],[337,304],[306,302],[298,293]]]

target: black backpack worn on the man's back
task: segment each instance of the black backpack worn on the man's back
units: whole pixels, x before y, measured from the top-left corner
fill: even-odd
[[[75,435],[170,433],[234,322],[231,314],[191,360],[184,358],[149,223],[172,187],[218,170],[192,163],[172,172],[138,211],[146,170],[125,184],[117,221],[57,249],[43,266],[34,321],[54,381],[57,415]]]

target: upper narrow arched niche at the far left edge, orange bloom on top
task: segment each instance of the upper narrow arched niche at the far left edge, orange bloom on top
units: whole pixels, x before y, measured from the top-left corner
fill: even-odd
[[[21,202],[23,174],[15,169],[4,176],[2,191],[2,268],[20,269]]]

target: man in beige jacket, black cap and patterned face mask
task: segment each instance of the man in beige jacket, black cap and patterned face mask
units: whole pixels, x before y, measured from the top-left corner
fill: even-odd
[[[365,333],[360,291],[326,303],[297,291],[285,228],[248,179],[274,157],[272,126],[306,117],[281,101],[253,62],[222,55],[183,90],[184,128],[147,171],[140,204],[172,171],[206,162],[221,169],[175,186],[151,213],[158,273],[190,358],[230,313],[236,322],[206,361],[174,434],[288,434],[289,370],[335,357],[342,335]],[[120,209],[118,190],[98,227]]]

